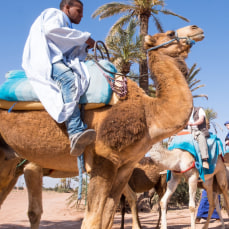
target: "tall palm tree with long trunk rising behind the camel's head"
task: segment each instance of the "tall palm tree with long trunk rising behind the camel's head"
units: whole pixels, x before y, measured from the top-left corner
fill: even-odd
[[[116,23],[112,26],[110,33],[114,33],[117,31],[119,26],[124,26],[128,22],[130,22],[131,18],[136,18],[139,20],[140,24],[140,37],[141,37],[141,53],[143,53],[142,58],[139,60],[139,85],[143,88],[146,93],[148,93],[148,67],[147,67],[147,59],[146,59],[146,50],[143,48],[143,41],[145,35],[148,34],[148,24],[149,18],[152,16],[155,22],[157,29],[162,32],[162,26],[159,22],[156,15],[158,13],[163,13],[166,15],[177,16],[185,21],[189,21],[188,19],[173,13],[170,10],[164,8],[165,3],[164,0],[129,0],[126,3],[122,2],[111,2],[100,6],[93,14],[92,17],[95,18],[99,16],[99,19],[104,19],[107,17],[111,17],[117,14],[124,14],[121,18],[119,18]]]

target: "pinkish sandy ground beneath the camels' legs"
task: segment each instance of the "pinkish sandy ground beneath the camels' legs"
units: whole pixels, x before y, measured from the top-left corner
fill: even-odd
[[[79,229],[83,220],[84,212],[76,211],[67,206],[67,198],[70,193],[43,192],[43,210],[40,228],[41,229]],[[0,229],[25,229],[29,227],[27,218],[27,192],[12,191],[3,203],[0,210]],[[158,218],[157,212],[140,213],[140,221],[143,229],[155,228]],[[228,224],[226,213],[223,212],[224,222]],[[189,210],[168,211],[168,228],[190,228]],[[202,220],[197,224],[197,229],[203,227]],[[131,229],[131,214],[125,215],[125,229]],[[209,228],[221,228],[220,222],[211,220]],[[117,213],[112,229],[120,228],[120,214]]]

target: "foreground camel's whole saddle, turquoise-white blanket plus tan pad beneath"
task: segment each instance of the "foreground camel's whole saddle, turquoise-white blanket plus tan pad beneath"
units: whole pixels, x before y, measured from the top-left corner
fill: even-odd
[[[107,60],[100,60],[99,64],[109,72],[104,72],[94,61],[85,62],[91,77],[89,86],[81,96],[79,104],[86,104],[86,110],[104,107],[108,104],[114,105],[118,101],[118,97],[113,96],[114,93],[107,80],[107,78],[115,78],[116,68]],[[23,70],[12,70],[6,74],[6,81],[0,85],[0,108],[44,109]]]

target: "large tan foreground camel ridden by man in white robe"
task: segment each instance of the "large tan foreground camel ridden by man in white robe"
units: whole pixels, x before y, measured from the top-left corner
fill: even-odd
[[[113,106],[85,111],[85,123],[97,134],[95,143],[84,152],[91,179],[82,229],[110,229],[136,163],[153,144],[185,127],[193,104],[181,69],[186,67],[185,59],[191,50],[190,38],[203,40],[203,30],[193,25],[146,36],[149,69],[157,84],[156,98],[128,80],[125,99]],[[77,158],[69,154],[65,125],[56,123],[45,110],[9,113],[0,109],[0,134],[20,157],[40,168],[78,173]],[[37,182],[42,178],[42,169],[40,174]],[[33,220],[33,229],[38,228],[39,220]]]

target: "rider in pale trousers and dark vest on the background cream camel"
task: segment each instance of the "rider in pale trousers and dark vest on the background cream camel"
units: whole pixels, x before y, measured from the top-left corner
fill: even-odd
[[[192,114],[188,121],[188,126],[191,127],[193,137],[198,142],[203,161],[203,168],[209,169],[207,138],[210,136],[210,134],[208,132],[206,114],[203,108],[193,107]]]

